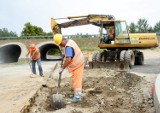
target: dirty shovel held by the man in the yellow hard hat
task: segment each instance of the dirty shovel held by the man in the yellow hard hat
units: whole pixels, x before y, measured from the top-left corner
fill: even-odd
[[[62,73],[59,73],[57,93],[53,94],[51,96],[51,109],[52,110],[57,110],[57,109],[64,108],[63,95],[59,94],[60,82],[61,82],[61,74]]]

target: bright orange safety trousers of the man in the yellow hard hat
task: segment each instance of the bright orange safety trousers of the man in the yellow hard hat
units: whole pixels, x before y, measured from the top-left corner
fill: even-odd
[[[82,76],[84,71],[84,63],[72,72],[72,82],[74,93],[82,92]]]

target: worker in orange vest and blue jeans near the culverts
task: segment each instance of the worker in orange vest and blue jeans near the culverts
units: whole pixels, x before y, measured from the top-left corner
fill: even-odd
[[[43,69],[41,66],[41,55],[39,52],[39,49],[34,45],[34,44],[30,44],[30,48],[29,51],[26,55],[26,57],[28,57],[28,55],[30,54],[31,56],[31,62],[32,62],[32,72],[33,72],[33,76],[32,77],[36,77],[36,62],[38,64],[38,69],[39,69],[39,75],[41,77],[43,77]]]

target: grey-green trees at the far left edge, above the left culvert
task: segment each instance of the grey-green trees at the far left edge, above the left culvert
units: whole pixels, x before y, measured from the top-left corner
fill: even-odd
[[[17,37],[18,35],[13,31],[8,31],[7,28],[0,29],[0,37]]]

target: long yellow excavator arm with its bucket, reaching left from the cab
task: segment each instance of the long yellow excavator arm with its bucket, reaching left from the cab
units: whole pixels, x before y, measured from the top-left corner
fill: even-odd
[[[61,34],[62,33],[61,28],[68,28],[68,27],[88,25],[88,24],[100,26],[101,21],[114,20],[114,16],[91,14],[84,16],[69,16],[66,19],[69,19],[70,21],[58,24],[56,22],[56,20],[58,19],[51,18],[51,29],[53,34],[57,33]]]

